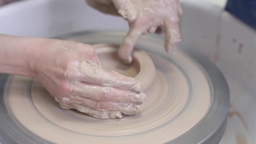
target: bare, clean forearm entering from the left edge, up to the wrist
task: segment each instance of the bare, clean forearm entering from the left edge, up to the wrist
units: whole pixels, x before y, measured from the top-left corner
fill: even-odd
[[[36,38],[0,34],[0,73],[34,77]]]

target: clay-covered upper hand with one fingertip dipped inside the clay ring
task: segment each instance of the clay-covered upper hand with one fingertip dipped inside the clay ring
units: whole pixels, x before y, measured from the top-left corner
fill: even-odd
[[[178,21],[182,15],[179,0],[87,0],[91,7],[104,13],[124,17],[130,30],[119,49],[119,57],[131,63],[131,52],[139,37],[147,33],[165,33],[165,50],[176,50],[181,41]]]

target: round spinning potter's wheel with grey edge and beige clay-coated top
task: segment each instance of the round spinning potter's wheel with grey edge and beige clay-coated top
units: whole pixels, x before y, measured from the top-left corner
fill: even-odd
[[[71,39],[89,44],[120,44],[123,32],[87,32]],[[36,80],[0,75],[2,143],[217,143],[225,130],[229,90],[220,71],[193,51],[164,52],[163,40],[143,37],[136,47],[155,64],[142,111],[122,119],[95,119],[63,110]],[[106,61],[103,61],[104,65]],[[115,64],[136,78],[143,67]],[[130,71],[130,72],[129,72]],[[144,71],[147,72],[147,69]],[[152,72],[151,70],[148,71]],[[145,73],[145,72],[144,72]],[[144,84],[144,85],[146,85]],[[5,85],[5,86],[4,86]]]

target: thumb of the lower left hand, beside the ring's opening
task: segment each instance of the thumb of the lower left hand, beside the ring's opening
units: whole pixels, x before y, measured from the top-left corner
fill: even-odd
[[[97,66],[101,67],[101,62],[100,59],[97,57],[96,51],[94,50],[94,47],[92,47],[91,45],[88,44],[82,44],[79,43],[77,45],[77,49],[80,53],[80,55],[82,55],[82,57],[85,57],[86,59],[88,59],[88,62],[91,62],[92,64],[95,64]]]

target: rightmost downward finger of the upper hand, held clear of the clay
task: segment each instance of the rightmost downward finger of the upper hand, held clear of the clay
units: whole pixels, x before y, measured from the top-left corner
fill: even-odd
[[[181,41],[181,35],[179,34],[179,26],[177,21],[166,20],[164,24],[165,32],[165,50],[166,52],[172,52],[177,49],[176,44]]]

